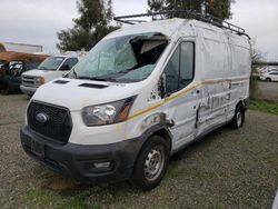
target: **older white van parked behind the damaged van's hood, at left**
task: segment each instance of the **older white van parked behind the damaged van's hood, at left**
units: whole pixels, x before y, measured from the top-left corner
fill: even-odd
[[[67,74],[78,61],[79,57],[68,54],[51,56],[47,58],[41,62],[38,69],[22,73],[21,91],[32,96],[41,84]]]

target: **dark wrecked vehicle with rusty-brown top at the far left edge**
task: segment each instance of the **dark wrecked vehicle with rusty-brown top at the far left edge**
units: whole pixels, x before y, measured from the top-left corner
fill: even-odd
[[[19,93],[21,74],[37,68],[47,54],[33,54],[7,51],[0,53],[0,91],[2,93]]]

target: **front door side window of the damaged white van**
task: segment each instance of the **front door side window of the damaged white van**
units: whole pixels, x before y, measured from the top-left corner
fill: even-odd
[[[182,42],[173,52],[165,69],[166,92],[173,93],[187,87],[193,79],[195,46],[193,42]]]

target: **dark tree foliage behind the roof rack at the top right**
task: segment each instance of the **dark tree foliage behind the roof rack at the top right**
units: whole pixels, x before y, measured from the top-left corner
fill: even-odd
[[[148,0],[148,11],[191,10],[199,13],[208,13],[225,20],[230,19],[232,16],[230,11],[231,3],[235,3],[235,0]],[[166,16],[165,18],[171,17],[185,18],[185,14],[175,13]]]

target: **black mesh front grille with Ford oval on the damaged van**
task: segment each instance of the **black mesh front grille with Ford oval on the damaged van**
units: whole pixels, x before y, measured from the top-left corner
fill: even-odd
[[[48,116],[47,122],[41,122],[36,118],[39,113]],[[28,125],[34,132],[59,143],[68,142],[72,129],[68,109],[40,102],[30,103]]]

